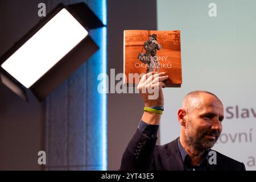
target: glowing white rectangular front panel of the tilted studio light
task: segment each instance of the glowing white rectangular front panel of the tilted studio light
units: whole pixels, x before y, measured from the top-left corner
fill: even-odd
[[[1,67],[30,88],[87,35],[88,31],[62,9]]]

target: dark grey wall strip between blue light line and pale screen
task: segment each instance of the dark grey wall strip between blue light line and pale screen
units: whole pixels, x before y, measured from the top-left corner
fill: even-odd
[[[108,75],[123,72],[123,30],[156,30],[156,0],[108,1]],[[139,94],[108,94],[108,169],[119,168],[142,114]]]

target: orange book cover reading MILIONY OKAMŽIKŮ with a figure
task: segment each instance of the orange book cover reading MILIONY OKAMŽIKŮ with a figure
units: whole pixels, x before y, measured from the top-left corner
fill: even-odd
[[[167,87],[180,87],[180,31],[125,30],[123,36],[124,82],[137,85],[143,73],[166,72]]]

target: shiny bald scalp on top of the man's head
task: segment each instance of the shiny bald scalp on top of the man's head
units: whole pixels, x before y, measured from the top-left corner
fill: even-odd
[[[201,90],[196,90],[193,92],[190,92],[187,94],[187,96],[185,96],[181,108],[184,109],[186,111],[186,113],[190,113],[191,111],[195,110],[195,109],[200,109],[201,104],[203,103],[204,99],[205,99],[205,95],[208,96],[212,96],[214,98],[216,98],[216,100],[218,102],[221,103],[221,100],[214,95],[213,93],[207,92],[207,91],[201,91]]]

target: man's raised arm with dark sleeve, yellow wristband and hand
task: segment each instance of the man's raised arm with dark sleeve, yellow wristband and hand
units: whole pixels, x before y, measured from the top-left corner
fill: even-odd
[[[162,88],[166,86],[163,81],[167,78],[164,72],[150,72],[141,78],[137,89],[147,111],[144,111],[138,129],[123,153],[120,170],[154,169],[156,134],[164,106]]]

